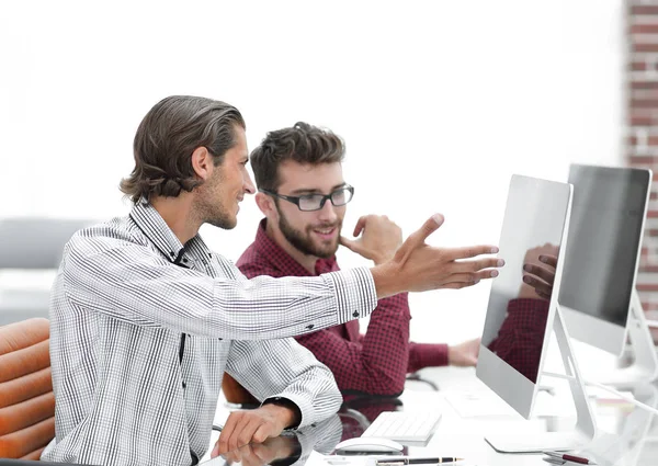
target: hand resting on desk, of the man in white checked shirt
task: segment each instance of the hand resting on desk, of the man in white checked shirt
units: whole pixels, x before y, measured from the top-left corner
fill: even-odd
[[[284,429],[299,422],[298,412],[281,405],[263,405],[249,411],[231,412],[211,457],[222,455],[248,443],[263,443],[279,436]]]

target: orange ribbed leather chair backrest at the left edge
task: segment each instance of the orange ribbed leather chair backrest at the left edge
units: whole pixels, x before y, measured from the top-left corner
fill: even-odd
[[[0,327],[0,458],[38,459],[55,437],[49,322]]]

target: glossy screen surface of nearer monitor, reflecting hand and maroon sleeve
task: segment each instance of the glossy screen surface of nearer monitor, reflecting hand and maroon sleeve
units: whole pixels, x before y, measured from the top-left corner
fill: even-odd
[[[483,344],[536,383],[569,186],[513,177],[500,238],[506,266],[491,284]]]

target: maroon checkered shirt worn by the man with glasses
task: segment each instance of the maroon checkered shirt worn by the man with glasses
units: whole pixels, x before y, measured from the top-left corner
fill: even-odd
[[[245,275],[311,276],[265,232],[260,223],[256,241],[237,262]],[[336,258],[319,259],[315,274],[339,270]],[[352,320],[329,329],[296,337],[336,377],[338,388],[348,394],[399,395],[407,373],[429,366],[447,365],[447,345],[409,342],[409,300],[406,293],[379,299],[365,334]]]

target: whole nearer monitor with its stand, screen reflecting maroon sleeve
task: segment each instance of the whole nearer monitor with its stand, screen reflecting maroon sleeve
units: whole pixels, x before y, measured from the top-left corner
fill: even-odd
[[[549,337],[555,330],[576,401],[578,432],[549,432],[529,439],[488,435],[487,441],[501,452],[568,448],[594,435],[593,418],[571,357],[557,299],[563,283],[571,193],[567,183],[512,177],[499,241],[499,254],[506,266],[491,283],[476,373],[529,419]],[[547,258],[547,262],[540,258]],[[535,287],[524,283],[524,264],[546,271],[545,284],[548,286],[553,281],[553,289],[548,286],[542,296],[537,295]]]

